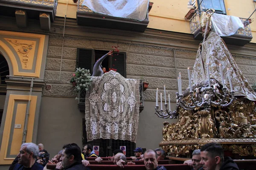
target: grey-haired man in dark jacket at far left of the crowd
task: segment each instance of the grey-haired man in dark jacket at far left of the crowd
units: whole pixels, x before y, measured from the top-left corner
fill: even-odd
[[[38,145],[23,143],[20,147],[20,153],[17,155],[18,163],[14,170],[43,170],[44,167],[36,161],[38,153]]]

